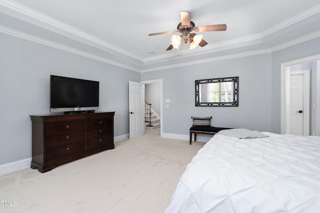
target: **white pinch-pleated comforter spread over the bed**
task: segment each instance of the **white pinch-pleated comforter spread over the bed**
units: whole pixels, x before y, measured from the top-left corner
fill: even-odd
[[[320,137],[263,134],[210,139],[165,213],[319,213]]]

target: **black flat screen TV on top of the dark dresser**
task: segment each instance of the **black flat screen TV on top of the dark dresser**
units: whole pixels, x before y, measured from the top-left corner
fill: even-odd
[[[98,81],[50,75],[51,112],[85,112],[87,110],[91,112],[98,106]]]

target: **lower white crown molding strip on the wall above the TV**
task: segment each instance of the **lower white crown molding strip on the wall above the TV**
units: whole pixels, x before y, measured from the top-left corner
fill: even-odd
[[[39,37],[36,37],[36,36],[33,36],[33,35],[29,35],[29,34],[26,34],[26,33],[23,33],[23,32],[19,32],[17,30],[10,29],[10,28],[4,27],[4,26],[0,26],[0,32],[5,33],[5,34],[9,34],[9,35],[12,35],[12,36],[15,36],[15,37],[19,37],[19,38],[22,38],[22,39],[26,39],[26,40],[29,40],[29,41],[33,41],[35,43],[39,43],[39,44],[43,44],[43,45],[46,45],[46,46],[50,46],[50,47],[53,47],[53,48],[56,48],[56,49],[60,49],[60,50],[63,50],[63,51],[71,52],[73,54],[77,54],[77,55],[81,55],[81,56],[84,56],[84,57],[87,57],[87,58],[98,60],[98,61],[101,61],[101,62],[104,62],[104,63],[108,63],[108,64],[111,64],[111,65],[114,65],[114,66],[122,67],[122,68],[125,68],[125,69],[128,69],[128,70],[132,70],[132,71],[135,71],[135,72],[140,72],[140,69],[137,69],[135,67],[128,66],[126,64],[119,63],[119,62],[116,62],[116,61],[113,61],[113,60],[109,60],[109,59],[106,59],[104,57],[93,55],[93,54],[90,54],[90,53],[87,53],[87,52],[84,52],[84,51],[80,51],[78,49],[74,49],[74,48],[59,44],[59,43],[55,43],[55,42],[52,42],[52,41],[49,41],[49,40],[45,40],[43,38],[39,38]]]

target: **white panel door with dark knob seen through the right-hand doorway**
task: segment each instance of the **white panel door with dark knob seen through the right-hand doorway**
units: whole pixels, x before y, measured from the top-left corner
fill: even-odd
[[[303,135],[303,74],[290,75],[290,132]]]

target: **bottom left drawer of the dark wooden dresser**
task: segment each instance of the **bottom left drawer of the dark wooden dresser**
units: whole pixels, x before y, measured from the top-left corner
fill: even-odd
[[[46,149],[46,160],[50,161],[84,151],[84,141]]]

